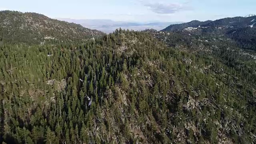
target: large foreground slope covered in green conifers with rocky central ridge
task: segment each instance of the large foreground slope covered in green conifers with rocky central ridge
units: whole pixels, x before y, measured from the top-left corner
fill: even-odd
[[[220,44],[218,53],[211,53],[214,46],[192,53],[151,32],[116,30],[85,44],[0,46],[1,140],[255,143],[256,63],[233,66],[238,55],[222,40],[205,48]],[[174,34],[177,45],[184,42]],[[195,46],[204,48],[202,38],[195,36]]]

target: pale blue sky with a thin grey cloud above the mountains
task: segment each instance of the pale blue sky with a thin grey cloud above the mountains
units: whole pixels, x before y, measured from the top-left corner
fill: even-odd
[[[188,22],[256,14],[256,0],[3,0],[0,10],[51,18]]]

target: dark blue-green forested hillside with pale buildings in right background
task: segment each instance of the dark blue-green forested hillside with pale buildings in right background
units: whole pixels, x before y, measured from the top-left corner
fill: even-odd
[[[218,37],[225,36],[244,49],[256,50],[256,16],[222,18],[215,21],[192,21],[170,25],[162,32],[190,33],[192,35]],[[188,28],[192,27],[192,28]]]

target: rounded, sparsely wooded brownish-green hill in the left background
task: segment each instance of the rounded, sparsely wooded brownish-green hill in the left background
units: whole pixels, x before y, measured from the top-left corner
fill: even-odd
[[[54,20],[42,14],[0,11],[0,38],[5,42],[40,43],[44,39],[85,40],[103,34],[98,30]]]

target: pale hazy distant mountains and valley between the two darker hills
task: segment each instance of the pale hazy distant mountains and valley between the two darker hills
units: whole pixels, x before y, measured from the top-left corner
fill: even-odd
[[[156,30],[162,30],[163,28],[166,28],[170,24],[181,24],[183,22],[150,22],[150,23],[140,23],[140,22],[116,22],[113,20],[90,20],[90,19],[84,19],[84,20],[76,20],[76,19],[70,19],[70,18],[56,18],[58,20],[63,20],[66,22],[74,22],[76,24],[81,24],[82,26],[90,29],[96,29],[100,30],[102,32],[110,33],[116,30],[117,28],[122,29],[129,29],[129,30],[145,30],[154,28]]]

